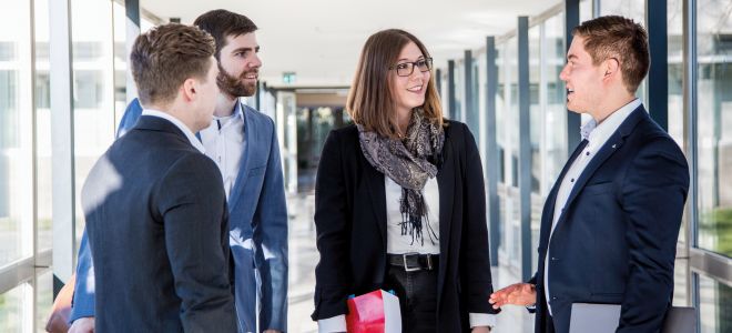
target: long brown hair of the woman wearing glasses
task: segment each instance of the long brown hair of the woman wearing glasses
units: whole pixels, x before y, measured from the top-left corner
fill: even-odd
[[[346,109],[355,123],[382,137],[398,138],[396,100],[393,95],[390,71],[401,49],[409,42],[417,44],[421,54],[429,57],[427,48],[411,33],[398,29],[383,30],[366,40],[356,67],[354,83],[348,92]],[[435,75],[429,77],[425,94],[425,118],[443,124],[443,107],[435,89]]]

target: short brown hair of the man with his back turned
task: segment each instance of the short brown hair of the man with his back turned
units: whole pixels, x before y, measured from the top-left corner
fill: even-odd
[[[189,78],[205,82],[213,52],[213,38],[195,27],[167,23],[140,34],[130,53],[140,102],[169,103]]]

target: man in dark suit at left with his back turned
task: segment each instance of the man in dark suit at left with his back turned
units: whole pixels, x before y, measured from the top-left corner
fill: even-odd
[[[214,40],[170,23],[141,34],[130,63],[144,105],[81,191],[98,332],[235,332],[226,198],[194,132],[218,88]]]

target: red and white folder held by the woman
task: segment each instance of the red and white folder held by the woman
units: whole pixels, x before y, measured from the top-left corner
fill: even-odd
[[[383,290],[348,300],[348,333],[399,333],[399,299]]]

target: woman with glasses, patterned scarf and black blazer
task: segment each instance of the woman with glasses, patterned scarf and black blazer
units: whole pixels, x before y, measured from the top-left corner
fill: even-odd
[[[366,41],[315,185],[321,332],[346,331],[348,295],[393,290],[404,332],[488,332],[495,313],[480,155],[443,119],[433,59],[403,30]]]

